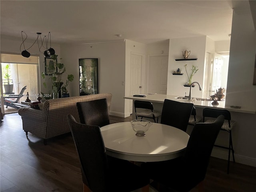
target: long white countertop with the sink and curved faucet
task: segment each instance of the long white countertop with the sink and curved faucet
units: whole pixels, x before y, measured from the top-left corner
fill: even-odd
[[[157,103],[164,103],[165,99],[174,100],[178,102],[186,102],[193,103],[196,107],[213,107],[213,108],[222,108],[227,109],[229,111],[240,112],[240,113],[250,113],[255,114],[256,110],[253,106],[242,106],[241,108],[231,108],[230,106],[225,105],[225,101],[218,101],[218,105],[212,105],[212,101],[189,101],[185,99],[177,99],[175,95],[164,95],[164,94],[145,94],[146,97],[134,97],[134,96],[124,96],[124,99],[132,99],[132,100],[141,100],[141,101],[150,101]]]

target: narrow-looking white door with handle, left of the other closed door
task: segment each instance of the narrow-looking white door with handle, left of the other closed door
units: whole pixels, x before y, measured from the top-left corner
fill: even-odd
[[[136,53],[131,54],[130,95],[141,94],[142,61],[143,61],[143,58],[141,54],[136,54]],[[130,100],[130,114],[132,114],[132,107],[133,107],[133,101]]]

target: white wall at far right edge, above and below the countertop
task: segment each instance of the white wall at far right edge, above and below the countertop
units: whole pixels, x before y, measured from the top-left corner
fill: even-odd
[[[256,54],[256,32],[251,14],[233,12],[226,105],[256,108],[256,86],[252,85]],[[233,132],[237,162],[256,166],[256,114],[232,112],[237,122]]]

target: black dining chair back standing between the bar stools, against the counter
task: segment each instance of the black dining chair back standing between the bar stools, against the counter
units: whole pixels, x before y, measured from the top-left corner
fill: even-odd
[[[161,124],[176,127],[186,132],[188,120],[194,104],[173,100],[164,100],[161,116]]]

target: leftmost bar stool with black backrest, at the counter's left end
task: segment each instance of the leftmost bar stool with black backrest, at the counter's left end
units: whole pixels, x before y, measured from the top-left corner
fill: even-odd
[[[138,108],[144,109],[143,111],[137,111]],[[138,117],[141,117],[141,119],[144,118],[150,118],[154,119],[155,123],[158,123],[158,117],[161,116],[161,112],[154,111],[154,107],[152,102],[149,101],[139,101],[135,100],[134,101],[134,110],[135,110],[135,116],[136,119]],[[157,120],[156,120],[157,118]]]

